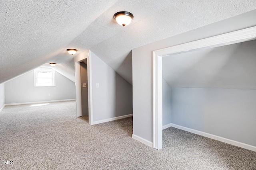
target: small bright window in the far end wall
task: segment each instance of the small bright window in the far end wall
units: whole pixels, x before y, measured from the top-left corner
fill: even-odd
[[[55,70],[52,68],[38,68],[34,70],[34,86],[55,86]]]

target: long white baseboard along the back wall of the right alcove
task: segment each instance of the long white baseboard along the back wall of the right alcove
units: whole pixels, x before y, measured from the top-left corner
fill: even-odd
[[[226,139],[224,137],[219,137],[219,136],[216,136],[216,135],[212,135],[210,133],[205,133],[205,132],[202,132],[202,131],[190,129],[188,127],[176,125],[176,124],[173,124],[173,123],[171,123],[171,127],[175,127],[177,129],[181,129],[181,130],[184,130],[184,131],[195,133],[197,135],[208,137],[210,139],[214,139],[214,140],[217,140],[217,141],[221,141],[221,142],[224,142],[224,143],[228,143],[230,145],[234,145],[234,146],[237,146],[237,147],[241,147],[241,148],[252,150],[252,151],[256,152],[256,147],[254,147],[252,145],[248,145],[246,143],[242,143],[242,142],[238,142],[238,141],[233,141],[231,139]]]

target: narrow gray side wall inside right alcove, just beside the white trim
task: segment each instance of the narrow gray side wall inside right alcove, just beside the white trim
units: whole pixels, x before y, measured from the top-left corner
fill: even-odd
[[[171,123],[171,87],[163,79],[163,126]]]

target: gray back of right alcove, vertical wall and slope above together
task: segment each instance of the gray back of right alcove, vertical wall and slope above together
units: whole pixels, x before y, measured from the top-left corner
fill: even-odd
[[[172,123],[256,146],[255,47],[253,40],[163,60]]]

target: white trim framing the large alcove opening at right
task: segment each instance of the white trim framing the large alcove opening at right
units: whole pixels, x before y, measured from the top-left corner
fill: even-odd
[[[256,26],[214,37],[200,39],[173,47],[153,51],[153,147],[162,148],[162,62],[164,55],[175,55],[200,49],[209,49],[256,39]]]

